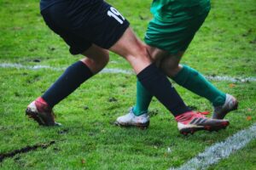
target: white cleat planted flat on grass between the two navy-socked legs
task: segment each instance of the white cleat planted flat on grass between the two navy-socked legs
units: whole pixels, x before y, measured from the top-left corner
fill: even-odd
[[[148,113],[144,113],[141,116],[135,116],[131,108],[129,113],[124,116],[119,116],[115,124],[122,127],[147,128],[149,125],[149,116]]]

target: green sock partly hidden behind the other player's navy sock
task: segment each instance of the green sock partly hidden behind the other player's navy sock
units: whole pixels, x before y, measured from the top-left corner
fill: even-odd
[[[137,99],[136,105],[133,107],[134,115],[140,116],[148,112],[148,105],[151,102],[153,95],[143,87],[141,82],[137,81]]]

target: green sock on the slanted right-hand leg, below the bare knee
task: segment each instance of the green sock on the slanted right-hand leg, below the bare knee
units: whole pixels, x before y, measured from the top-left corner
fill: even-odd
[[[183,88],[210,100],[213,106],[224,105],[226,94],[215,88],[201,73],[188,65],[183,65],[183,69],[172,80]]]

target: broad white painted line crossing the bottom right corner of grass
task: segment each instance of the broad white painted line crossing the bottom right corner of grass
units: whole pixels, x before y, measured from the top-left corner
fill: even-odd
[[[234,134],[223,142],[214,144],[201,152],[198,156],[187,161],[181,167],[170,168],[170,170],[194,170],[207,169],[210,165],[217,163],[221,159],[227,158],[236,150],[241,150],[250,141],[256,139],[256,123],[246,130]]]

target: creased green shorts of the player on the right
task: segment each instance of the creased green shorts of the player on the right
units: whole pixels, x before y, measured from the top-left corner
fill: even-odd
[[[195,36],[195,32],[199,30],[207,14],[210,11],[210,3],[201,14],[184,13],[178,14],[178,18],[173,17],[169,20],[161,20],[155,17],[148,24],[148,30],[144,37],[144,41],[153,47],[166,50],[170,54],[177,54],[185,51],[189,47],[189,43]],[[193,9],[192,9],[193,10]],[[181,14],[184,14],[181,17]]]

